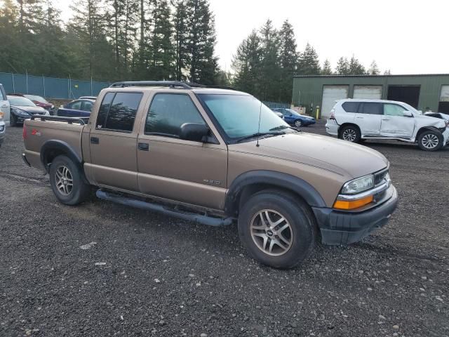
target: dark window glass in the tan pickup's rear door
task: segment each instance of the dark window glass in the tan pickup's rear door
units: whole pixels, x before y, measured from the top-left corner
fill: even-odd
[[[95,128],[107,131],[132,132],[143,93],[110,92],[98,110]]]

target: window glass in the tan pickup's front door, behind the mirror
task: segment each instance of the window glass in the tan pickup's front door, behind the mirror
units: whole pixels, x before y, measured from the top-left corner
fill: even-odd
[[[157,93],[149,107],[145,133],[179,138],[180,127],[185,123],[201,123],[204,120],[189,95]]]

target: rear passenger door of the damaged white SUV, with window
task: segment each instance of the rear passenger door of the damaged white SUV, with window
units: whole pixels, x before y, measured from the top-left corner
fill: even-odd
[[[354,120],[360,128],[362,136],[380,136],[382,123],[382,103],[361,102]]]

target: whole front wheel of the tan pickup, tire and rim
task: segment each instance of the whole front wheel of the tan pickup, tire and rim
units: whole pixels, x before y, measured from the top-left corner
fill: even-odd
[[[267,226],[277,221],[281,223]],[[317,226],[303,201],[280,191],[264,190],[243,205],[239,213],[239,237],[255,260],[270,267],[290,269],[314,250]]]

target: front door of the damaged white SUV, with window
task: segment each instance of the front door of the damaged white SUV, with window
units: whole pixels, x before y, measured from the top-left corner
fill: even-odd
[[[415,118],[404,116],[406,107],[395,103],[384,103],[380,136],[412,138],[415,130]]]

